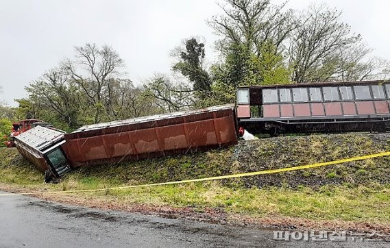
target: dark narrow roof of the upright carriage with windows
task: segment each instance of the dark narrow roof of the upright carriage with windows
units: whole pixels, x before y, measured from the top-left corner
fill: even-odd
[[[319,86],[354,86],[354,85],[373,85],[386,84],[389,80],[372,80],[372,81],[348,81],[348,82],[310,82],[302,84],[269,84],[256,86],[240,86],[239,88],[299,88],[299,87],[319,87]]]

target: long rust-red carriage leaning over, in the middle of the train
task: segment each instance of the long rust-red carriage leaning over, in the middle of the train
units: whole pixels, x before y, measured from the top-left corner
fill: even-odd
[[[65,134],[73,167],[187,153],[237,142],[234,106],[87,125]]]

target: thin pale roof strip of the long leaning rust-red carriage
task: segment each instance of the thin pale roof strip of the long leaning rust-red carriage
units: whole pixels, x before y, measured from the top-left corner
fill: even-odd
[[[145,123],[145,122],[149,122],[149,121],[159,121],[159,120],[163,120],[163,119],[170,119],[170,118],[175,118],[175,117],[180,117],[180,116],[204,114],[206,112],[215,112],[215,111],[219,111],[219,110],[228,110],[228,109],[232,109],[232,108],[234,108],[234,104],[226,104],[226,105],[221,105],[221,106],[212,106],[212,107],[204,108],[201,110],[186,110],[186,111],[173,112],[173,113],[168,113],[168,114],[156,114],[153,116],[143,116],[143,117],[138,117],[138,118],[134,118],[134,119],[126,119],[126,120],[121,120],[121,121],[97,123],[97,124],[93,124],[93,125],[85,125],[83,127],[80,127],[79,129],[76,129],[71,134],[89,131],[89,130],[95,130],[95,129],[104,129],[104,128],[108,128],[108,127],[119,127],[122,125]]]

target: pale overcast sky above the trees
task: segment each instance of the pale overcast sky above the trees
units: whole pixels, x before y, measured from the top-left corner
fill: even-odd
[[[290,0],[288,7],[300,10],[313,2]],[[373,55],[390,60],[390,1],[326,3],[343,11],[343,21],[375,49]],[[205,20],[219,12],[215,0],[0,0],[0,101],[16,106],[13,99],[26,97],[25,86],[86,42],[112,45],[135,83],[169,73],[169,52],[190,36],[206,40],[212,60],[217,36]]]

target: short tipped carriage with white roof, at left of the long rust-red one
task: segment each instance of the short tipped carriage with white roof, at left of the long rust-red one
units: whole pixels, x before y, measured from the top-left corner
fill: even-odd
[[[47,182],[71,170],[71,165],[61,148],[64,142],[64,132],[42,126],[15,136],[14,140],[19,153],[36,165],[40,171],[45,172]]]

